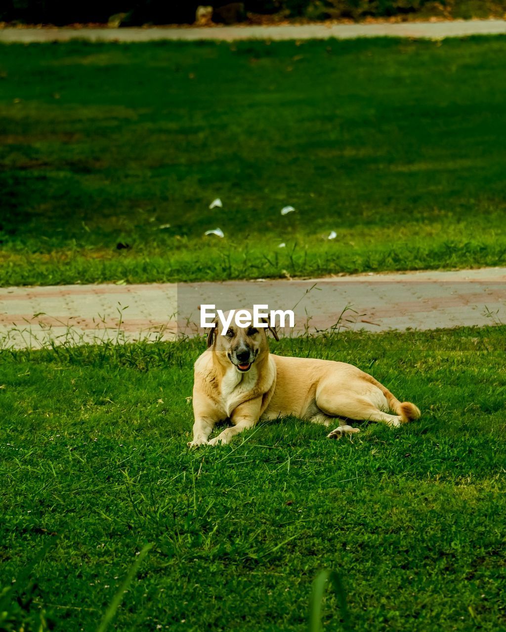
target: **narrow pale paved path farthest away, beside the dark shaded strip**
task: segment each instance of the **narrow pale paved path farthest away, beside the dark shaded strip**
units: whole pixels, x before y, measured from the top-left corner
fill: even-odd
[[[233,27],[151,27],[151,28],[4,28],[0,42],[54,42],[87,39],[115,42],[151,40],[242,40],[242,39],[350,39],[354,37],[463,37],[506,33],[505,20],[454,20],[403,22],[397,24],[304,24]]]

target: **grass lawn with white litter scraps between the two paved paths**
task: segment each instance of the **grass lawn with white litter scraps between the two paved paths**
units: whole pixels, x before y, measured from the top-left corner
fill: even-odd
[[[505,262],[505,37],[11,44],[0,85],[3,286]]]

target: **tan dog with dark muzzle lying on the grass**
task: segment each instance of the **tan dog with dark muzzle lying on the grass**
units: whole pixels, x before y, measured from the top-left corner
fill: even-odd
[[[271,332],[278,339],[273,329]],[[190,447],[225,444],[259,420],[287,415],[327,427],[340,418],[340,425],[327,435],[336,439],[359,432],[347,425],[348,419],[400,426],[420,416],[414,404],[401,403],[374,377],[353,365],[269,353],[266,328],[231,324],[221,334],[216,323],[207,336],[206,351],[195,362],[195,423]],[[216,423],[228,419],[232,427],[209,441]]]

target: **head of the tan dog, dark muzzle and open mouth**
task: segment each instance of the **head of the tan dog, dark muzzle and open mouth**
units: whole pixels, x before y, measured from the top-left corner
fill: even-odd
[[[249,312],[250,320],[251,322],[253,321],[253,314],[250,310],[241,311]],[[227,320],[229,314],[230,312],[225,313]],[[275,329],[268,325],[266,321],[264,322],[266,322],[267,327],[254,327],[253,324],[240,327],[236,324],[235,319],[232,319],[226,331],[219,320],[214,322],[215,326],[207,334],[207,346],[214,345],[214,353],[218,356],[220,362],[225,365],[231,362],[240,373],[246,373],[254,362],[268,355],[268,329],[275,339],[279,340]]]

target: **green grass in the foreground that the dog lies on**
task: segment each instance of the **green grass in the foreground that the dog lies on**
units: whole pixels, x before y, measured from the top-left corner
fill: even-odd
[[[25,615],[93,631],[151,543],[116,629],[306,632],[321,569],[340,573],[356,631],[506,629],[505,335],[273,343],[353,362],[423,417],[353,441],[288,419],[194,452],[203,341],[3,351],[1,584],[35,560]],[[342,630],[325,595],[325,629]]]

